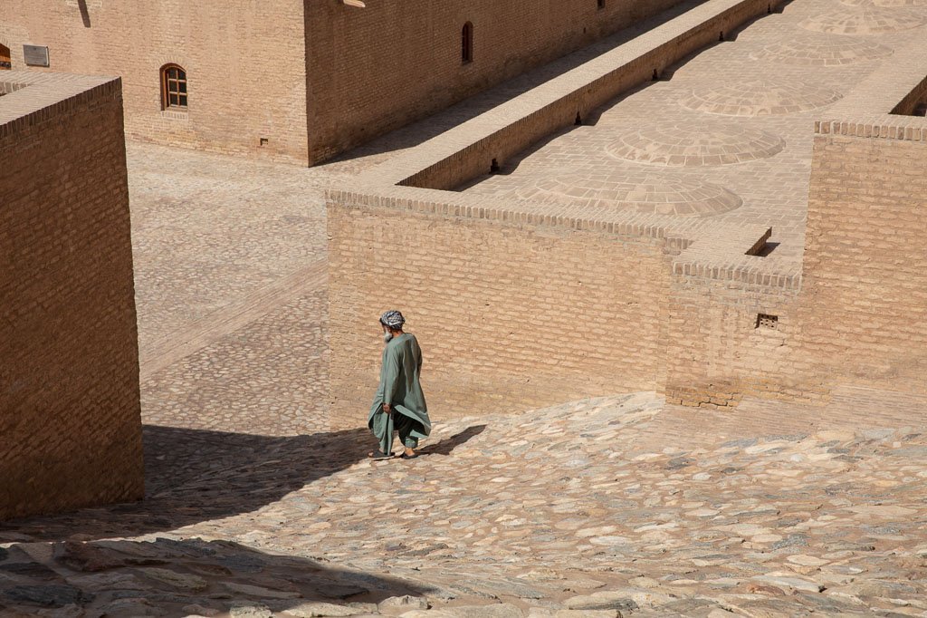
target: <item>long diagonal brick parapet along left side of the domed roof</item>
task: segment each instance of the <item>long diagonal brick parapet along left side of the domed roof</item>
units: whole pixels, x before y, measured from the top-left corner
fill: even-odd
[[[716,42],[781,0],[708,0],[632,41],[566,71],[476,118],[463,122],[363,176],[380,185],[450,189],[527,148],[544,135],[668,66]]]

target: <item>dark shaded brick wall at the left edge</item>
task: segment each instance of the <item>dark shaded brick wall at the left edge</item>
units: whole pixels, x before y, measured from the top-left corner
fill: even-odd
[[[0,519],[143,496],[121,87],[65,91],[0,97]]]

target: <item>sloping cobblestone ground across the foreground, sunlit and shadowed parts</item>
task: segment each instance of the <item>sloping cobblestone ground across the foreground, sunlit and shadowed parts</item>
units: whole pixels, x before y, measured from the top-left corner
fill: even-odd
[[[440,424],[420,457],[385,462],[364,457],[363,431],[149,427],[145,503],[0,527],[0,605],[927,615],[922,426],[825,429],[799,412],[779,423],[787,434],[748,437],[764,429],[749,421],[729,432],[720,414],[664,432],[684,418],[637,393]]]

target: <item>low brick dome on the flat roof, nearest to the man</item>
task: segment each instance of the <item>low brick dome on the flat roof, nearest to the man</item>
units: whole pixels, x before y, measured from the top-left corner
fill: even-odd
[[[612,211],[705,216],[743,204],[724,187],[700,181],[620,172],[580,173],[541,180],[513,192],[520,200]]]

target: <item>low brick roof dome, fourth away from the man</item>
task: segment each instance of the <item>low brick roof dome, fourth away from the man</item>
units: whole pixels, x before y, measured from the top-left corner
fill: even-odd
[[[767,45],[752,54],[753,58],[770,59],[799,66],[832,67],[864,62],[892,55],[892,48],[866,39],[806,36]]]

